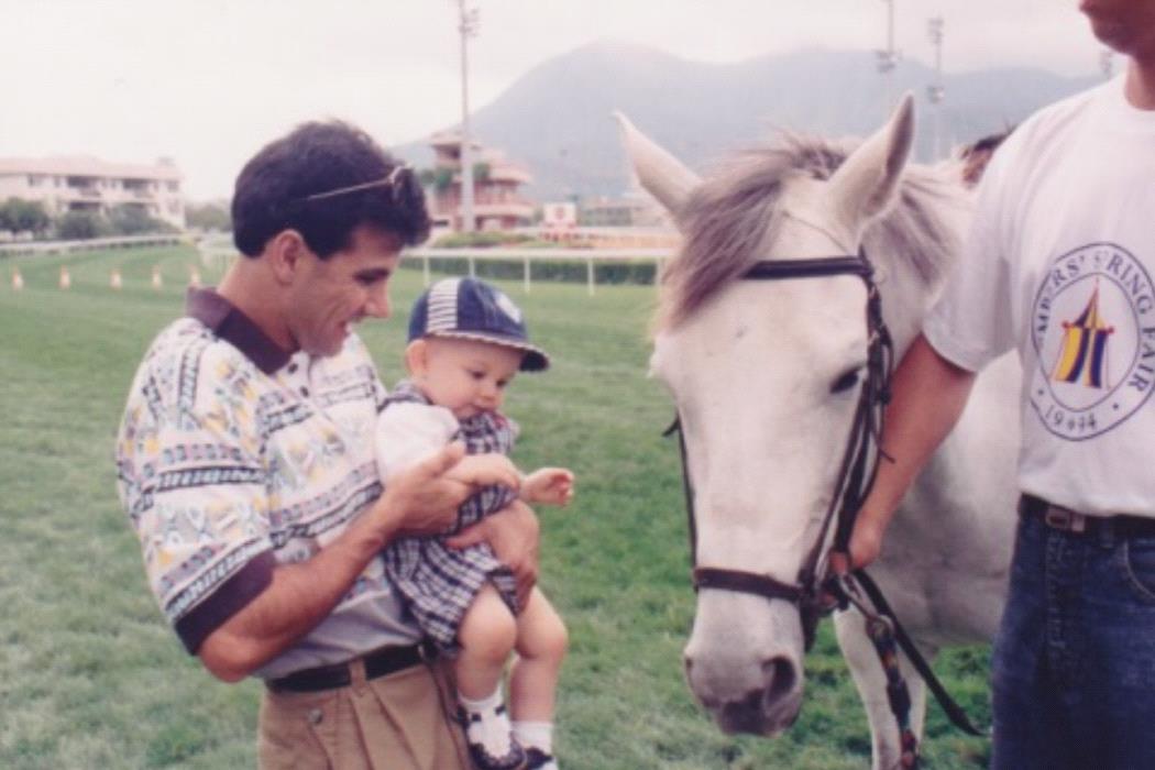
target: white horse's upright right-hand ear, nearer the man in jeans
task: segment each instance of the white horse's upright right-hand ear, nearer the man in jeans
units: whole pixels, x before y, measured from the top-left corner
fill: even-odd
[[[858,147],[830,177],[847,224],[860,227],[894,201],[915,137],[915,99],[903,95],[891,120]]]

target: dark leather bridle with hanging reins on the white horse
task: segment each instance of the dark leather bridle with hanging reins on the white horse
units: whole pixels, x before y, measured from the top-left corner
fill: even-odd
[[[827,256],[805,260],[755,262],[740,278],[743,281],[791,281],[803,278],[827,278],[833,276],[858,276],[866,285],[866,376],[859,390],[850,435],[847,440],[839,466],[830,503],[822,518],[818,538],[806,555],[793,583],[783,582],[772,575],[739,569],[698,566],[698,525],[694,516],[694,491],[690,480],[690,459],[686,440],[681,432],[681,417],[663,435],[678,434],[678,450],[681,456],[683,492],[686,496],[686,514],[690,532],[690,559],[693,568],[694,590],[716,589],[751,593],[766,599],[781,599],[798,606],[802,618],[805,649],[814,644],[818,621],[835,606],[845,610],[851,604],[866,618],[866,631],[878,651],[887,679],[887,698],[891,711],[899,723],[902,747],[901,767],[918,767],[918,748],[910,725],[910,696],[899,671],[895,648],[901,648],[922,675],[951,722],[973,735],[982,735],[967,718],[963,710],[949,696],[931,671],[925,658],[914,645],[899,623],[874,581],[864,570],[850,575],[828,575],[829,552],[848,552],[855,519],[863,500],[870,494],[878,474],[879,463],[887,458],[882,451],[884,409],[891,399],[891,373],[894,362],[894,346],[891,332],[882,320],[882,299],[874,283],[874,269],[864,251],[857,256]],[[888,458],[887,458],[888,459]],[[830,540],[833,529],[833,543]],[[862,591],[870,597],[867,606]]]

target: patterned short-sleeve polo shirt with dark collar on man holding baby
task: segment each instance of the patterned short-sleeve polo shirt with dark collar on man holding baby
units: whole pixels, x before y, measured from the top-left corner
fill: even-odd
[[[148,582],[189,652],[381,494],[385,390],[356,336],[333,357],[277,349],[211,291],[152,343],[117,442],[118,487]],[[370,562],[328,619],[258,675],[340,663],[419,631]]]

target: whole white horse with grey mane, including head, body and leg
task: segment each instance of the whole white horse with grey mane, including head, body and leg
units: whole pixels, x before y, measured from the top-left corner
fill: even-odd
[[[618,118],[640,181],[684,236],[663,275],[650,368],[681,420],[698,565],[793,583],[819,538],[854,418],[866,291],[847,275],[739,278],[759,260],[855,255],[862,246],[901,358],[957,259],[969,194],[956,166],[908,166],[909,96],[854,151],[783,137],[705,180]],[[990,641],[1001,614],[1020,379],[1013,358],[978,379],[870,570],[929,659],[944,645]],[[895,767],[899,731],[863,618],[837,613],[835,627],[866,707],[873,767]],[[787,728],[802,703],[803,655],[797,606],[699,591],[685,671],[722,730]],[[921,735],[925,687],[904,658],[901,667]]]

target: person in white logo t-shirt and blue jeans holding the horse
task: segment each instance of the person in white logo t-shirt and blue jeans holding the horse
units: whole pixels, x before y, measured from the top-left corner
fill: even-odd
[[[877,558],[976,373],[1015,349],[1022,498],[994,768],[1155,767],[1155,0],[1080,9],[1126,73],[994,155],[966,254],[895,372],[895,462],[850,540],[852,567]]]

